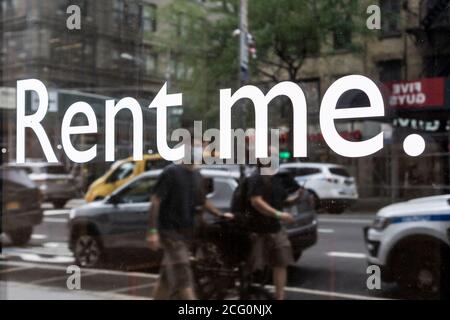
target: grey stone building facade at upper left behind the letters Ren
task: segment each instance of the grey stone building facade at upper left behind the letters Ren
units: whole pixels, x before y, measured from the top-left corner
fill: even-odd
[[[1,2],[1,87],[11,96],[16,81],[37,78],[49,90],[49,112],[44,127],[59,159],[65,161],[60,125],[65,110],[81,100],[94,108],[99,134],[74,141],[81,150],[98,143],[99,170],[105,165],[102,148],[105,100],[136,98],[144,113],[144,150],[155,148],[155,121],[147,106],[161,88],[164,68],[152,36],[157,30],[156,13],[164,0],[5,0]],[[66,12],[70,5],[81,9],[81,29],[69,30]],[[54,97],[54,98],[52,98]],[[11,98],[10,102],[15,99]],[[53,101],[54,100],[54,101]],[[5,101],[5,100],[4,100]],[[3,101],[3,102],[4,102]],[[32,108],[33,99],[28,102]],[[30,112],[32,110],[30,109]],[[2,103],[3,160],[15,159],[15,110]],[[116,159],[132,154],[131,113],[116,117]],[[42,158],[31,130],[27,132],[27,157]]]

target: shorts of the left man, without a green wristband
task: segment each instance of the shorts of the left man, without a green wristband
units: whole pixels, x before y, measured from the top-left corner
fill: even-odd
[[[189,241],[173,232],[162,232],[160,241],[164,251],[160,271],[161,285],[167,287],[170,294],[175,294],[182,289],[193,288]]]

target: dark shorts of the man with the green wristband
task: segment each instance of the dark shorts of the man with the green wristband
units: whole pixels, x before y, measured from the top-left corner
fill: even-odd
[[[249,257],[251,270],[264,267],[287,267],[294,263],[292,246],[286,231],[254,233],[251,235],[252,250]]]

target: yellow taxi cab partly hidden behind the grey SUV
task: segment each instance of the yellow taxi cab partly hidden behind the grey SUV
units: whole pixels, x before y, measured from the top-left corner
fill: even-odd
[[[118,160],[108,172],[89,186],[85,200],[87,202],[101,200],[141,173],[163,168],[167,164],[168,162],[159,154],[146,154],[142,160],[137,161],[133,160],[132,157]]]

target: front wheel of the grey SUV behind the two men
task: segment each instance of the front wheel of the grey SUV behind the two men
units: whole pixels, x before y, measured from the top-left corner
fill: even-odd
[[[93,234],[80,234],[74,242],[74,256],[77,265],[85,268],[94,268],[101,265],[103,260],[103,247],[97,236]]]

